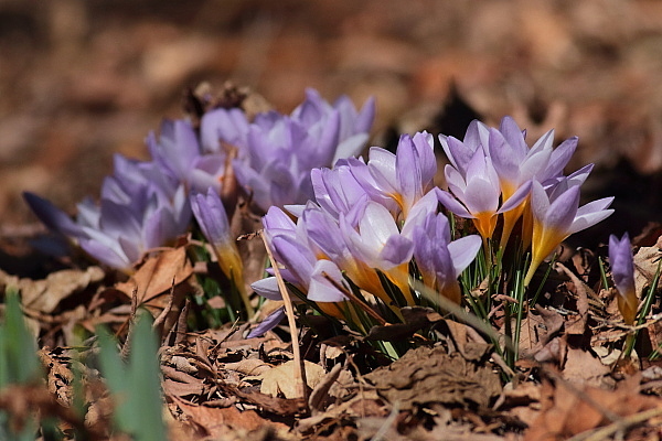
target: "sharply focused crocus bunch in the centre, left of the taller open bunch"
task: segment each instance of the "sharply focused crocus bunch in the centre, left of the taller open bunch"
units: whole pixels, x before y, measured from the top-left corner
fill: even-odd
[[[276,206],[264,217],[282,278],[331,315],[346,311],[329,302],[346,301],[350,287],[375,295],[397,314],[399,306],[418,303],[409,280],[414,260],[427,287],[460,303],[458,276],[481,239],[451,240],[448,219],[438,213],[433,148],[427,132],[404,135],[395,154],[373,147],[367,162],[354,158],[333,169],[314,169],[314,201],[286,207],[296,222]],[[275,277],[253,288],[280,299]]]

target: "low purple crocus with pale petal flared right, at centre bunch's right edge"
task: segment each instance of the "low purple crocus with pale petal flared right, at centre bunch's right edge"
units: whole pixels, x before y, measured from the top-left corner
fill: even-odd
[[[428,213],[423,225],[416,227],[413,234],[414,258],[423,282],[459,304],[458,277],[480,250],[480,236],[471,235],[451,241],[448,218],[440,213]]]

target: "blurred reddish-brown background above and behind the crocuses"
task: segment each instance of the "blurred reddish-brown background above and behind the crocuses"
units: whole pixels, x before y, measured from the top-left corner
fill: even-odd
[[[186,88],[227,80],[284,112],[305,87],[374,95],[372,144],[504,115],[576,135],[585,197],[617,196],[595,240],[660,219],[661,1],[0,0],[2,237],[35,228],[22,191],[73,213]]]

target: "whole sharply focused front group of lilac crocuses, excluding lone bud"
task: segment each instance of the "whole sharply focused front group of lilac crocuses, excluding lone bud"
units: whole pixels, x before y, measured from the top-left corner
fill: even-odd
[[[373,147],[367,162],[351,158],[332,169],[313,169],[314,200],[284,207],[289,214],[271,207],[264,217],[284,279],[309,300],[335,302],[320,304],[332,315],[348,311],[338,302],[348,301],[352,289],[374,295],[397,315],[399,306],[420,303],[415,279],[459,304],[458,277],[481,246],[489,263],[493,241],[499,239],[503,251],[516,234],[517,252],[530,249],[531,263],[521,270],[522,284],[528,286],[567,236],[612,213],[612,198],[579,207],[580,185],[592,165],[563,174],[577,138],[554,149],[554,131],[531,148],[525,137],[509,117],[499,128],[473,121],[463,140],[440,136],[449,160],[444,170],[448,191],[433,183],[437,165],[427,132],[402,136],[395,154]],[[471,219],[480,236],[451,240],[440,205]],[[273,277],[253,288],[280,298]]]

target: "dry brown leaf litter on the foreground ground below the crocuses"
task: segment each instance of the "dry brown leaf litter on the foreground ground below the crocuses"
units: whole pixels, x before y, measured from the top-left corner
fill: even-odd
[[[25,287],[23,306],[38,324],[33,330],[54,344],[39,353],[47,374],[44,388],[4,390],[0,407],[17,418],[26,415],[25,409],[39,408],[60,417],[63,427],[83,424],[93,434],[105,433],[113,404],[98,372],[79,362],[85,352],[71,346],[76,335],[85,335],[81,330],[100,323],[126,336],[135,311],[127,303],[130,299],[150,306],[157,318],[170,310],[175,323],[181,314],[173,308],[178,290],[196,289],[194,271],[182,256],[183,248],[160,252],[130,278],[114,276],[117,281],[111,286],[106,283],[113,275],[96,267],[36,281],[3,276],[3,284]],[[640,289],[650,284],[659,257],[658,246],[637,252]],[[505,381],[493,347],[476,331],[423,308],[403,310],[404,325],[382,326],[366,337],[418,342],[419,347],[381,367],[383,361],[366,364],[362,337],[350,333],[324,341],[313,329],[301,330],[308,400],[297,397],[291,342],[278,329],[250,340],[245,338],[246,325],[233,324],[184,332],[177,341],[163,334],[162,391],[172,416],[170,432],[179,433],[178,439],[244,440],[659,435],[662,366],[645,358],[662,338],[659,312],[641,326],[647,331],[637,345],[641,363],[623,367],[619,354],[627,330],[618,324],[615,293],[599,283],[594,290],[587,275],[575,272],[572,261],[566,265],[556,267],[562,277],[556,292],[546,293],[548,299],[560,293],[563,302],[555,306],[541,302],[525,315],[522,357]],[[70,306],[72,297],[81,304]],[[83,311],[75,315],[66,308]],[[654,304],[653,311],[660,305]],[[436,330],[438,343],[417,336],[416,331],[426,326]],[[74,376],[81,375],[76,369],[84,369],[90,404],[84,421],[71,412]]]

